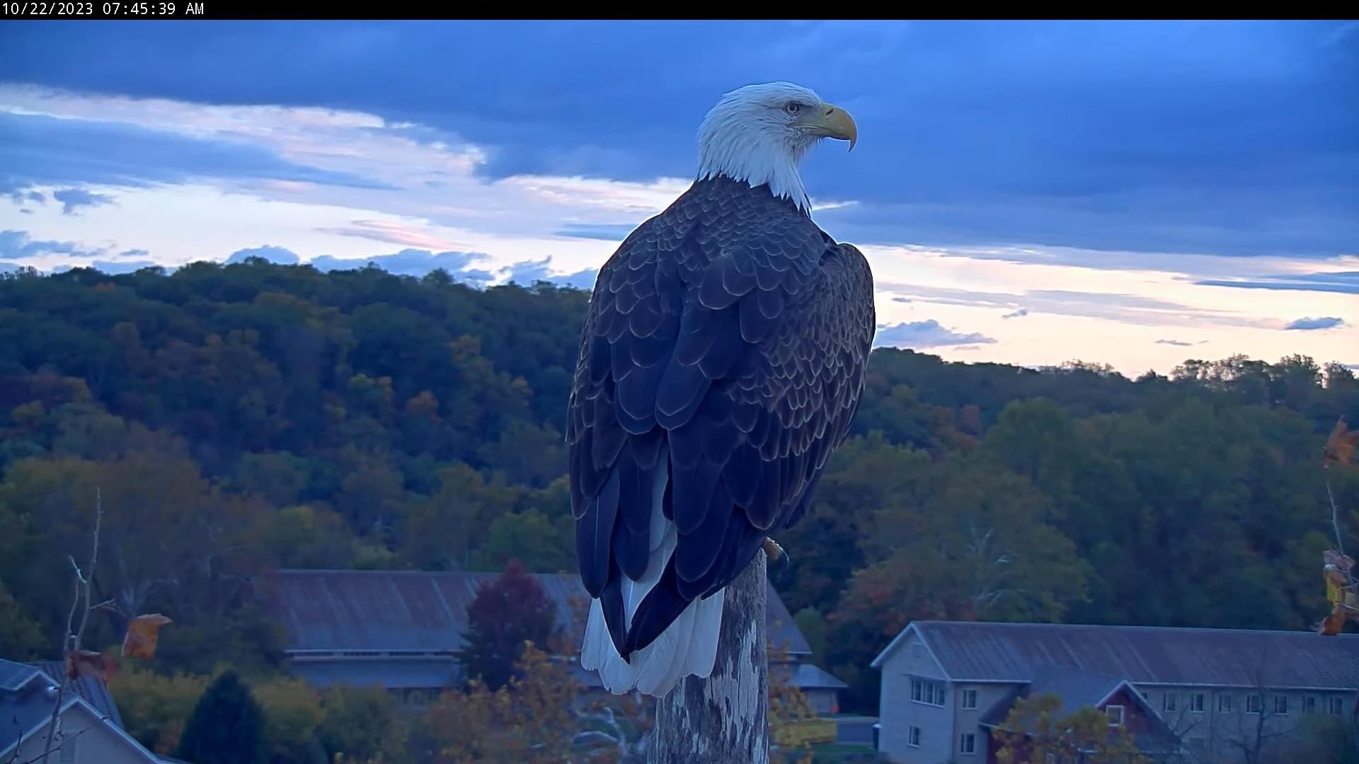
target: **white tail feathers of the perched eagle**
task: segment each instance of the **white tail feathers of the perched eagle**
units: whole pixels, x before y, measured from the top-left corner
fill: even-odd
[[[651,503],[651,553],[647,572],[640,580],[628,576],[622,579],[624,617],[632,623],[633,614],[651,587],[660,580],[670,555],[674,552],[678,534],[673,522],[662,510],[669,473],[669,454],[662,450],[660,469]],[[580,667],[598,670],[605,689],[622,695],[633,688],[646,695],[663,697],[680,680],[688,674],[708,677],[718,658],[718,635],[722,631],[722,605],[726,591],[718,591],[707,600],[694,600],[685,608],[660,636],[647,647],[632,654],[632,662],[624,661],[613,646],[609,627],[603,620],[599,600],[590,604],[586,620],[586,638],[580,646]]]

